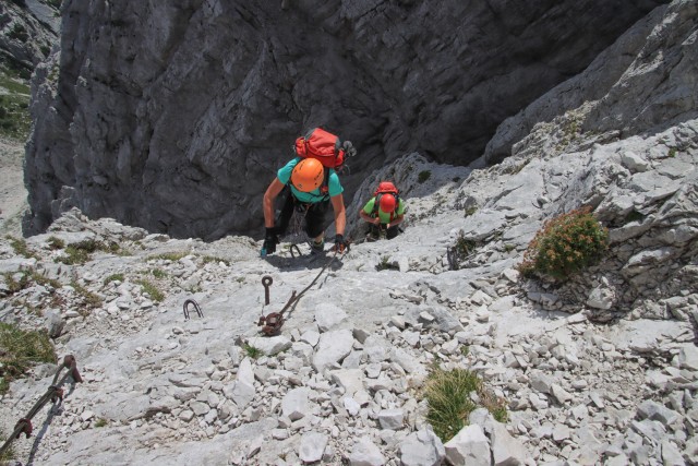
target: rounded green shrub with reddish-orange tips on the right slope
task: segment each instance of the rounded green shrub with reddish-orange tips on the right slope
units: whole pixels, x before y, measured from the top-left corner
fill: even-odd
[[[529,277],[540,274],[565,279],[597,263],[607,247],[609,230],[591,208],[578,208],[547,220],[517,268]]]

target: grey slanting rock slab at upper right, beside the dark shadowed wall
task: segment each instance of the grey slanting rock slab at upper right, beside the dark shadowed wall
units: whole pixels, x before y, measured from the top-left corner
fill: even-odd
[[[698,115],[698,44],[694,1],[658,8],[601,53],[582,73],[505,120],[488,143],[498,162],[535,123],[564,115],[564,144],[655,133]],[[583,111],[573,111],[581,108]],[[566,147],[569,150],[569,147]]]

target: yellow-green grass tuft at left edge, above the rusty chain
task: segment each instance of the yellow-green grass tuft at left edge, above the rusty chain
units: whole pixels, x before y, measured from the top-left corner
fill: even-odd
[[[11,381],[39,362],[56,362],[48,332],[24,331],[0,322],[0,394],[8,391]]]

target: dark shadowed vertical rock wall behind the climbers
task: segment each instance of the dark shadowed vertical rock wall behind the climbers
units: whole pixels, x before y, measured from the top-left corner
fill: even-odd
[[[25,232],[79,206],[173,237],[249,234],[317,124],[359,148],[349,198],[412,150],[467,165],[662,3],[65,1],[33,91]]]

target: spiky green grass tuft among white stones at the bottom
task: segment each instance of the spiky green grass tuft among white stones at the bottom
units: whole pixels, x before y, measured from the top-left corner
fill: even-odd
[[[472,392],[478,395],[478,404],[470,396]],[[426,420],[444,443],[468,425],[470,413],[478,407],[486,408],[501,422],[507,418],[504,401],[496,399],[474,372],[465,369],[434,368],[424,384],[423,396],[429,403]]]

